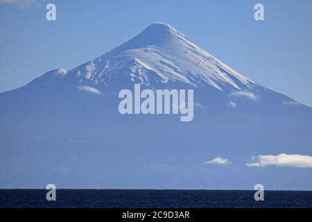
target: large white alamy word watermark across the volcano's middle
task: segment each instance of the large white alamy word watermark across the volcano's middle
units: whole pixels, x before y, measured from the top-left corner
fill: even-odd
[[[135,84],[135,92],[121,89],[121,114],[180,114],[180,121],[192,121],[194,111],[193,89],[144,89]],[[143,101],[141,101],[143,99]],[[134,105],[133,105],[134,104]]]

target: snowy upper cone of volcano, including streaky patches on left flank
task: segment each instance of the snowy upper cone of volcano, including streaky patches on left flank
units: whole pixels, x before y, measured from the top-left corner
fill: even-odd
[[[209,86],[220,91],[257,86],[164,23],[148,26],[132,40],[72,69],[68,75],[79,77],[78,85],[100,89],[127,80],[152,88],[161,83],[168,84],[162,87]]]

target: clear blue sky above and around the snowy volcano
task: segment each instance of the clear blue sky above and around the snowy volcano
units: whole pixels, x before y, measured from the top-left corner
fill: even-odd
[[[0,0],[0,92],[166,22],[244,76],[312,106],[312,1],[23,1]],[[54,22],[46,3],[57,7]],[[254,21],[255,3],[265,7],[263,22]]]

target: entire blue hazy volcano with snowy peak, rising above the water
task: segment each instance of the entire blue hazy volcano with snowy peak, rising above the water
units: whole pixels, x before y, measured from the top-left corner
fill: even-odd
[[[193,121],[120,114],[118,92],[135,83],[193,89]],[[312,155],[312,109],[245,78],[168,24],[1,93],[0,108],[0,187],[253,189],[275,182],[293,189],[289,180],[311,177],[264,169],[259,180],[246,163],[257,155]],[[232,164],[204,163],[219,155]]]

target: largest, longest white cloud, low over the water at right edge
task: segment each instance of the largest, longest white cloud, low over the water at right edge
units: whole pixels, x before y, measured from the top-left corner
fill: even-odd
[[[312,167],[312,157],[309,155],[291,155],[281,153],[279,155],[259,155],[252,157],[254,162],[246,164],[248,167],[266,167],[275,165],[278,167]]]

